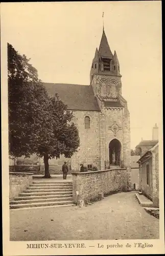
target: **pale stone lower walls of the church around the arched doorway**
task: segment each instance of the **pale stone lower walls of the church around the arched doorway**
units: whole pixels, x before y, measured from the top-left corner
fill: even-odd
[[[93,164],[98,169],[105,169],[105,161],[109,161],[109,143],[113,139],[120,141],[121,161],[128,168],[128,185],[130,184],[130,119],[127,109],[105,109],[101,112],[74,111],[74,122],[78,127],[80,147],[72,157],[72,170],[79,171],[80,164]],[[85,116],[90,117],[90,129],[85,129]],[[110,127],[116,122],[120,130],[114,135]]]

